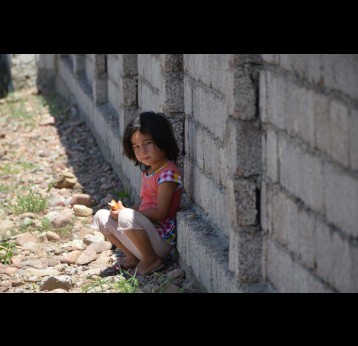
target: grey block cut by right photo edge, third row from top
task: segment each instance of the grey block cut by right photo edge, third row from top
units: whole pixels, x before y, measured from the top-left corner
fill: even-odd
[[[358,180],[329,163],[324,164],[327,219],[346,234],[358,235]]]

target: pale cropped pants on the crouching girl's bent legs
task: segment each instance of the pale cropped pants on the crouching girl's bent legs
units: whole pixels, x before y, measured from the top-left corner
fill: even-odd
[[[133,209],[122,209],[118,214],[118,223],[111,217],[109,210],[100,209],[94,216],[93,224],[104,236],[113,234],[139,260],[142,260],[142,254],[127,237],[127,230],[144,230],[158,257],[165,259],[170,254],[172,247],[159,236],[152,222]]]

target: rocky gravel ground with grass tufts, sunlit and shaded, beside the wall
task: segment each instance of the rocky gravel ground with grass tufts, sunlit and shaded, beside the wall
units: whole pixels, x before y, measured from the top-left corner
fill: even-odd
[[[91,227],[130,206],[75,107],[27,89],[0,100],[0,292],[194,293],[175,256],[144,277],[101,277],[122,253]]]

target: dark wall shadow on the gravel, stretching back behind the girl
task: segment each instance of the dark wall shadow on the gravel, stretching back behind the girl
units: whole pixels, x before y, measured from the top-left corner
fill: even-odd
[[[126,206],[130,206],[122,182],[105,161],[94,136],[86,122],[79,117],[76,106],[71,105],[59,94],[52,91],[42,92],[40,97],[50,114],[54,118],[61,143],[66,151],[66,157],[56,163],[56,167],[74,173],[82,191],[96,201],[93,209],[108,208],[108,201],[121,199]],[[54,167],[55,168],[55,167]],[[75,192],[74,192],[75,193]]]

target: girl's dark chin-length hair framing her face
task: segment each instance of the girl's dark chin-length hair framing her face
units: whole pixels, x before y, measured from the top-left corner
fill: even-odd
[[[133,134],[138,130],[143,134],[150,134],[155,145],[165,151],[168,160],[173,162],[177,160],[179,147],[169,119],[163,113],[143,112],[127,125],[122,142],[124,154],[136,165],[140,165],[142,171],[145,171],[147,166],[140,163],[135,157],[131,141]]]

